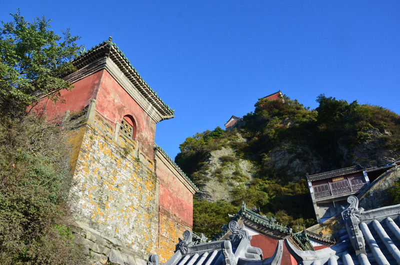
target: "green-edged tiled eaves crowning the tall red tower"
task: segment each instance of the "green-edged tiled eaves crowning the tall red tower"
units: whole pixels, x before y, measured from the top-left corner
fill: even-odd
[[[86,66],[90,66],[93,62],[104,57],[109,58],[116,65],[116,67],[119,68],[119,70],[129,80],[131,85],[137,89],[140,95],[159,112],[162,119],[170,119],[173,117],[174,110],[166,105],[157,96],[157,93],[153,91],[139,76],[122,51],[118,48],[118,46],[116,46],[115,43],[112,42],[111,37],[107,41],[103,41],[88,51],[82,52],[80,56],[73,60],[72,63],[79,70]],[[93,70],[96,71],[96,69]],[[73,77],[74,74],[68,76],[68,78]]]

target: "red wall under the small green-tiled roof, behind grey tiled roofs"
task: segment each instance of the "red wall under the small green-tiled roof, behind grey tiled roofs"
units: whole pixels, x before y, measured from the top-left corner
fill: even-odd
[[[275,252],[276,246],[278,244],[277,239],[273,239],[267,237],[265,235],[256,234],[251,237],[250,240],[251,246],[256,246],[261,248],[262,250],[262,258],[268,258],[273,255]],[[289,251],[286,248],[286,245],[283,242],[283,253],[282,253],[282,261],[281,265],[296,265],[297,262],[292,255],[290,255]]]

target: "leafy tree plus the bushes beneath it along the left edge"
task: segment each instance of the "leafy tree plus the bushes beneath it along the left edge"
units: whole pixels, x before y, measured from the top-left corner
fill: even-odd
[[[42,95],[70,89],[79,46],[49,20],[24,21],[19,11],[0,28],[0,263],[84,264],[73,243],[66,199],[70,174],[62,128],[26,115]]]

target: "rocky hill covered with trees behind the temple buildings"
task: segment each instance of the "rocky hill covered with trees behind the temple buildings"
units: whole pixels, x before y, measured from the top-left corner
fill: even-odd
[[[400,157],[399,115],[323,95],[317,102],[315,110],[289,98],[257,102],[234,129],[188,137],[175,162],[200,188],[200,200],[244,200],[292,227],[311,224],[307,173]]]

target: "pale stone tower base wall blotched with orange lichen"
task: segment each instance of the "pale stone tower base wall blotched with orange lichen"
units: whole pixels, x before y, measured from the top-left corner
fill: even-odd
[[[156,253],[158,181],[153,161],[140,152],[137,142],[115,135],[99,115],[80,123],[70,136],[75,182],[70,204],[82,228],[81,239],[95,238],[95,248],[84,243],[110,261],[123,256],[147,259]]]

